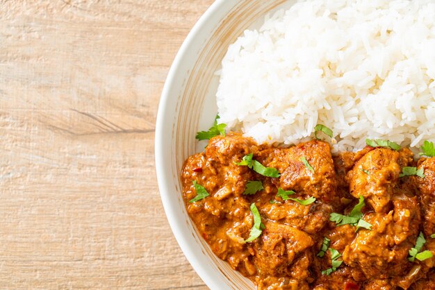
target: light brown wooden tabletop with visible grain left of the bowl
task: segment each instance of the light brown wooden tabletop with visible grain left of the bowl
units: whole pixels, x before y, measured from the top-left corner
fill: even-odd
[[[154,128],[212,0],[0,0],[2,289],[207,289],[167,223]]]

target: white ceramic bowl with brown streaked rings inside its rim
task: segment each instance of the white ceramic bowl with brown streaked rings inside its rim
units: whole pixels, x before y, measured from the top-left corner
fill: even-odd
[[[184,160],[201,151],[195,134],[209,128],[217,108],[215,71],[229,44],[287,0],[217,0],[181,46],[167,76],[156,123],[156,173],[172,231],[195,271],[211,289],[253,289],[254,284],[218,259],[186,212],[179,174]]]

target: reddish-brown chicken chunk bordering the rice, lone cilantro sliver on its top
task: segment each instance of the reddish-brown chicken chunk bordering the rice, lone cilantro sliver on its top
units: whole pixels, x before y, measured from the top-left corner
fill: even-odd
[[[281,172],[279,184],[282,189],[314,196],[325,203],[334,199],[336,173],[328,143],[313,140],[290,148],[265,150],[258,158],[265,166]],[[302,158],[308,164],[304,164]]]

